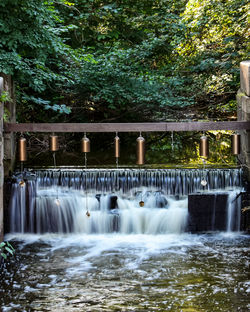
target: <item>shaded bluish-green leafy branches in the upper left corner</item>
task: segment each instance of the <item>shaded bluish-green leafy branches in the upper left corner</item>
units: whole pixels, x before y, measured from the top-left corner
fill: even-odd
[[[40,0],[1,1],[0,32],[0,72],[14,76],[22,90],[18,100],[22,101],[25,92],[44,96],[51,86],[59,92],[62,81],[68,81],[59,67],[72,58],[58,36],[50,4]],[[61,112],[60,107],[57,110]]]

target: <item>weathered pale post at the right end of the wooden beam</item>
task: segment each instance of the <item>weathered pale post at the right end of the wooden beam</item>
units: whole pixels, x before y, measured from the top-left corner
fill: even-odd
[[[237,93],[238,120],[250,121],[250,61],[240,63],[240,89]],[[241,134],[241,156],[240,160],[247,167],[244,175],[250,183],[250,131],[244,130]]]

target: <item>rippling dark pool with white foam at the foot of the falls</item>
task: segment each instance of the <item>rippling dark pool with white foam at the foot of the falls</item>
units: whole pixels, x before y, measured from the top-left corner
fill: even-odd
[[[2,311],[249,311],[249,236],[22,235]],[[8,272],[7,272],[8,269]]]

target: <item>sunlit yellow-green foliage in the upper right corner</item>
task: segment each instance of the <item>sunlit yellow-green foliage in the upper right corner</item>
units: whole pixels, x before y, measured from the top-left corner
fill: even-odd
[[[196,103],[205,103],[210,112],[218,113],[221,105],[235,99],[239,63],[249,58],[249,8],[242,0],[190,0],[182,14],[187,30],[176,46],[177,70],[193,78]]]

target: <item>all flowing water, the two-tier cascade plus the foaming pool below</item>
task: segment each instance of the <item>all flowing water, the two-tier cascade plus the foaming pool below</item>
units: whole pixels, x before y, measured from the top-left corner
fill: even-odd
[[[250,310],[250,237],[231,232],[240,170],[52,170],[21,180],[10,188],[16,257],[0,273],[3,312]],[[187,195],[222,190],[227,232],[185,233]]]

